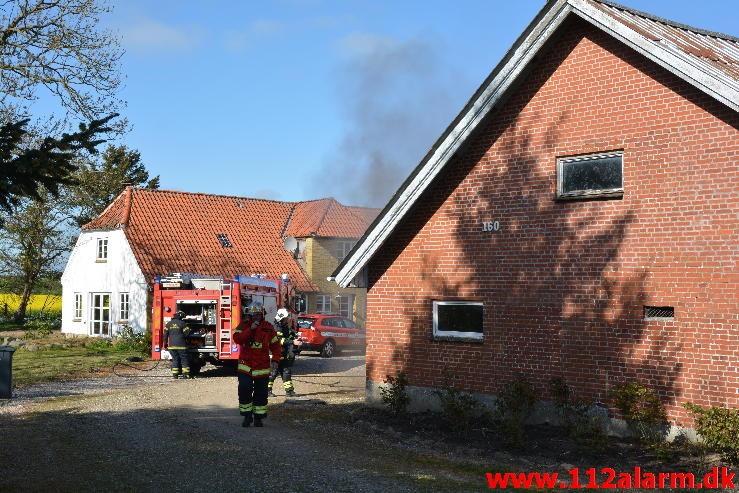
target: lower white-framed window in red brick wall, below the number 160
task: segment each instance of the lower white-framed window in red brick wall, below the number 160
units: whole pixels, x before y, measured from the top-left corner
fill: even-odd
[[[434,301],[435,338],[482,340],[482,301]]]

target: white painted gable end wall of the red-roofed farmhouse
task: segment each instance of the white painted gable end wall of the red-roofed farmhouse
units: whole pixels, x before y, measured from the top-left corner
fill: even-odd
[[[98,238],[108,239],[108,258],[97,261]],[[74,318],[75,293],[82,294],[82,317]],[[122,230],[82,232],[62,274],[62,332],[92,335],[92,294],[110,294],[111,332],[120,320],[120,294],[128,293],[128,326],[146,331],[147,283]]]

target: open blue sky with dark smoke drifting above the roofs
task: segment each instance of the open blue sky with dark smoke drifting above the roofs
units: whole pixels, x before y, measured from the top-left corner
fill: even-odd
[[[111,0],[164,189],[383,206],[543,0]],[[623,0],[738,35],[735,0]]]

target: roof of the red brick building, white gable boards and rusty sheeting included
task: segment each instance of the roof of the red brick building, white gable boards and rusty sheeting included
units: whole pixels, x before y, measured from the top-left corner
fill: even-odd
[[[347,286],[374,256],[477,125],[511,89],[569,16],[613,36],[734,111],[739,111],[739,39],[678,24],[605,0],[550,0],[403,182],[334,272]]]

